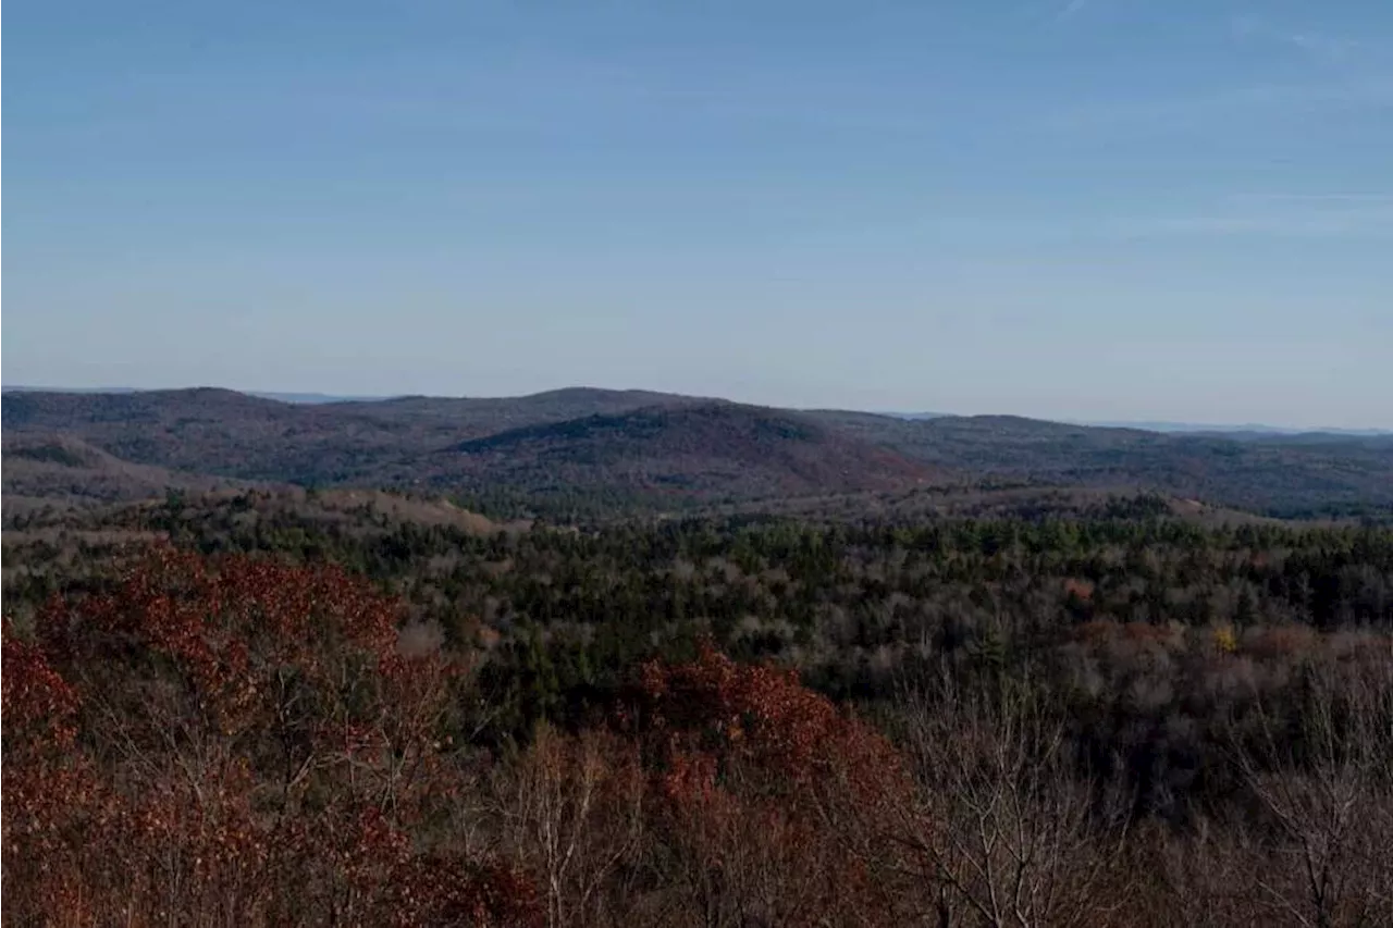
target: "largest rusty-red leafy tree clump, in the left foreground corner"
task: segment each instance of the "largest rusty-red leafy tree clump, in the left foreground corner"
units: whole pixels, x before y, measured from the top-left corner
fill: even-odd
[[[451,670],[398,617],[336,569],[164,549],[42,647],[0,628],[0,921],[532,924],[513,871],[422,857]]]

